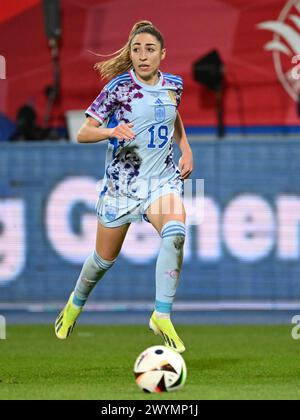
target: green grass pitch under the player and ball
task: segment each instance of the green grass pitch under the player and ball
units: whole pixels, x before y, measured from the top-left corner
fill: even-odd
[[[8,326],[0,340],[0,399],[300,399],[300,341],[290,326],[178,326],[187,382],[145,394],[132,368],[162,344],[146,326],[77,325],[66,341],[52,325]]]

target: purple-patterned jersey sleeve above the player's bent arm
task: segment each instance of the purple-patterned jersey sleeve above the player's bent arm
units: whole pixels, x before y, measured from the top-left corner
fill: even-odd
[[[106,86],[85,111],[87,117],[95,118],[100,124],[107,121],[117,107],[117,95]]]

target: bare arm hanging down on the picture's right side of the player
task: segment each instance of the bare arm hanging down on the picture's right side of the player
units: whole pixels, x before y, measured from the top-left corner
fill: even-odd
[[[179,159],[179,169],[181,171],[182,179],[187,179],[193,171],[193,152],[189,141],[187,139],[182,119],[177,112],[175,126],[174,126],[174,139],[178,144],[182,156]]]

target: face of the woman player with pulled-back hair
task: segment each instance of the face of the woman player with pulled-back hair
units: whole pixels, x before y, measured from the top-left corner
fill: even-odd
[[[130,47],[130,57],[137,77],[151,82],[157,78],[157,70],[166,50],[161,48],[158,39],[150,34],[136,35]]]

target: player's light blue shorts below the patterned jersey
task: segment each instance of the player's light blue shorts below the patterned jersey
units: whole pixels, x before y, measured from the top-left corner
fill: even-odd
[[[151,191],[146,199],[129,197],[114,198],[107,195],[99,197],[95,210],[98,221],[106,227],[118,227],[132,222],[149,222],[146,211],[159,197],[177,194],[183,197],[183,181],[179,178],[168,181],[160,188]]]

